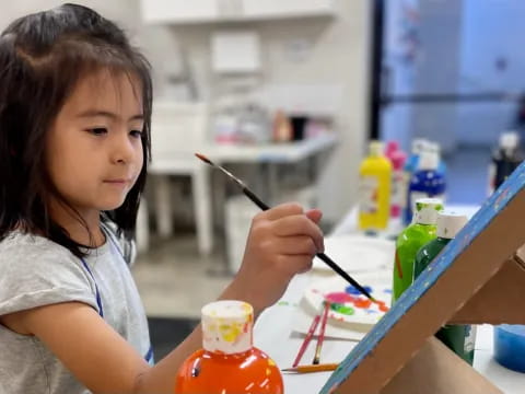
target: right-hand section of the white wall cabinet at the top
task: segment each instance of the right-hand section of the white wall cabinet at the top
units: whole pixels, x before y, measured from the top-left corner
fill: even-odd
[[[335,0],[243,0],[247,19],[291,18],[334,14]]]

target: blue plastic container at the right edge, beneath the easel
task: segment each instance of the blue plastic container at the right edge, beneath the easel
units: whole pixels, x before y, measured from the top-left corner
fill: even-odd
[[[525,326],[494,327],[494,359],[505,368],[525,372]]]

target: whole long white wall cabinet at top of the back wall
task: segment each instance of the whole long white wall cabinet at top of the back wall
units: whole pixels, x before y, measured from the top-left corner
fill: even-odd
[[[210,23],[334,15],[336,0],[141,0],[145,23]]]

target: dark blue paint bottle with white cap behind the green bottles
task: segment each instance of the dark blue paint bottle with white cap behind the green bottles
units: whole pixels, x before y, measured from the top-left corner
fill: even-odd
[[[435,150],[423,150],[419,157],[418,171],[410,179],[408,189],[408,217],[412,220],[412,212],[416,200],[420,198],[440,198],[445,197],[445,177],[438,170],[440,157]]]

